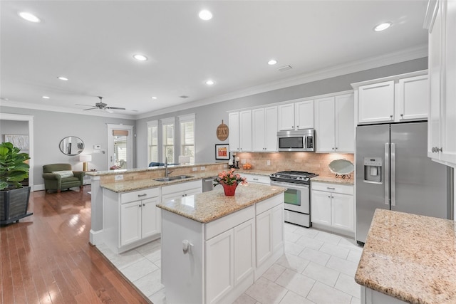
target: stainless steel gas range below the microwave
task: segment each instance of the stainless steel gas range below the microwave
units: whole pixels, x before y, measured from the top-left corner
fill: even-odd
[[[286,188],[285,192],[285,221],[311,226],[311,178],[318,174],[301,171],[282,171],[269,175],[271,185]]]

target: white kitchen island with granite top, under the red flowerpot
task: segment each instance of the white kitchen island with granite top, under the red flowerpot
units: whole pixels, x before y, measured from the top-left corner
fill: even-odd
[[[157,204],[167,303],[232,303],[284,254],[284,191],[239,185]]]

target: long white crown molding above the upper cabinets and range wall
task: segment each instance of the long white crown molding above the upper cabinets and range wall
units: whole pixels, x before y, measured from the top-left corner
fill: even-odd
[[[196,100],[192,103],[185,105],[176,105],[175,107],[164,108],[161,110],[154,110],[153,112],[146,112],[137,115],[137,119],[153,117],[157,115],[167,114],[170,112],[177,112],[180,110],[187,110],[190,108],[201,107],[203,105],[210,105],[212,103],[220,103],[222,101],[232,100],[235,98],[242,98],[249,95],[259,94],[268,92],[271,90],[279,90],[281,88],[289,88],[294,85],[302,85],[304,83],[311,83],[317,80],[323,80],[327,78],[333,78],[336,76],[346,75],[350,73],[361,72],[362,70],[369,70],[371,68],[380,68],[385,65],[391,65],[395,63],[401,63],[404,61],[411,61],[413,59],[427,57],[427,45],[418,46],[415,48],[408,48],[402,51],[388,53],[382,56],[373,58],[366,58],[360,61],[352,61],[349,63],[343,63],[336,65],[331,68],[322,70],[315,70],[310,73],[302,74],[293,78],[286,78],[271,83],[264,83],[257,85],[246,90],[238,90],[236,92],[227,93],[224,95],[214,96],[212,98],[206,98],[202,100]]]

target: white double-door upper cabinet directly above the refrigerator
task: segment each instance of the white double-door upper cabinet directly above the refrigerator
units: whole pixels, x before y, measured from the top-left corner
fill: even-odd
[[[427,120],[427,71],[353,83],[358,124]]]

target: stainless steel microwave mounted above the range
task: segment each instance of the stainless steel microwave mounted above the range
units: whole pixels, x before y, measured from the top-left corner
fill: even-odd
[[[315,130],[277,132],[279,151],[315,151]]]

